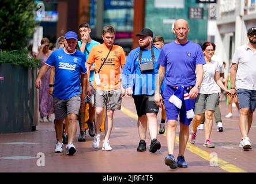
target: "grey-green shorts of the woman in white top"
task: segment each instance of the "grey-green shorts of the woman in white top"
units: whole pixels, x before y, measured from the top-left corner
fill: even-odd
[[[198,94],[195,101],[195,114],[204,114],[205,110],[215,110],[219,100],[219,94]]]

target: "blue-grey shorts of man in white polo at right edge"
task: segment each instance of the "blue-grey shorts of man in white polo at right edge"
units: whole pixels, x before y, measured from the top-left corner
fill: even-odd
[[[236,94],[240,109],[249,108],[250,112],[254,112],[256,109],[256,90],[238,89]]]

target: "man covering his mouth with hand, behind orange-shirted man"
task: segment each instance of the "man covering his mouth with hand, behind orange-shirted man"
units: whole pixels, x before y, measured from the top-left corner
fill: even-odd
[[[81,34],[81,40],[78,41],[78,45],[80,47],[80,51],[83,52],[86,56],[86,60],[88,59],[89,53],[94,45],[99,45],[100,43],[92,40],[90,33],[91,28],[89,24],[82,23],[79,26],[79,32]],[[91,70],[88,70],[87,72],[87,85],[93,85],[93,72],[94,72],[94,64],[91,67]],[[89,104],[89,119],[87,121],[87,125],[89,128],[89,135],[93,137],[95,135],[95,126],[94,126],[94,117],[95,117],[95,105],[92,104],[92,99],[94,98],[95,90],[92,90],[92,94],[89,93],[85,99],[85,101],[81,101],[81,106],[79,110],[79,126],[80,126],[80,134],[78,137],[78,141],[82,142],[85,141],[85,129],[84,129],[84,122],[85,122],[85,109],[86,109],[86,103]]]

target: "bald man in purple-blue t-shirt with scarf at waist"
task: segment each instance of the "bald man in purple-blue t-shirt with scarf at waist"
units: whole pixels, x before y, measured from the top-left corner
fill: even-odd
[[[171,169],[187,167],[184,152],[189,139],[189,124],[194,117],[195,98],[203,78],[204,55],[198,44],[187,40],[189,24],[186,20],[175,21],[173,32],[176,40],[165,44],[159,56],[159,72],[155,93],[155,102],[163,104],[167,115],[168,156],[165,164]],[[165,73],[165,71],[168,71]],[[165,77],[166,87],[163,98],[160,94],[161,83]],[[174,159],[175,131],[180,121],[179,154]]]

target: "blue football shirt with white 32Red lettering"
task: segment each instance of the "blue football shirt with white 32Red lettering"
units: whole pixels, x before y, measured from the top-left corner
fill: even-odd
[[[86,73],[86,58],[84,53],[76,50],[67,53],[60,48],[51,53],[46,64],[55,66],[54,92],[52,96],[59,99],[69,99],[80,93],[80,74]]]

